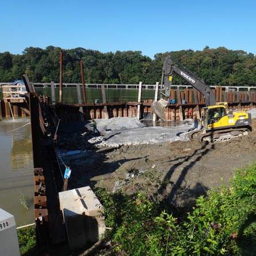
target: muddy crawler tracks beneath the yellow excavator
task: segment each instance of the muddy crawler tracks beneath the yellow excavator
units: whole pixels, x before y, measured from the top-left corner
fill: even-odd
[[[199,140],[200,142],[223,142],[234,137],[248,135],[249,128],[223,129],[212,132],[205,132],[205,129],[199,129],[189,133],[190,140]]]

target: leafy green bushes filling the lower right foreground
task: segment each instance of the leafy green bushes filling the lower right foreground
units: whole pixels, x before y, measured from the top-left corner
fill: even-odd
[[[147,192],[102,190],[106,223],[113,224],[111,255],[256,255],[255,170],[254,164],[236,170],[229,188],[199,197],[185,218],[166,212]]]

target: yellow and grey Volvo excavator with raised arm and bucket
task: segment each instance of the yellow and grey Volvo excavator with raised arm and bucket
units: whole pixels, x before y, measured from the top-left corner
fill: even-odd
[[[184,78],[194,89],[200,91],[204,95],[207,105],[201,111],[201,129],[190,132],[188,134],[190,140],[199,139],[201,142],[217,142],[247,135],[251,131],[250,113],[235,110],[228,111],[227,102],[216,103],[211,88],[171,56],[167,56],[163,64],[162,85],[165,87],[165,93],[161,94],[164,98],[152,104],[156,116],[165,120],[165,108],[170,104],[171,81],[174,73]]]

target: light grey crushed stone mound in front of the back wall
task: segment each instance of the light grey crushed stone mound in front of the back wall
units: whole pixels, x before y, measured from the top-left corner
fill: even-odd
[[[136,117],[116,117],[95,121],[100,134],[98,136],[96,134],[89,142],[97,148],[188,140],[188,133],[200,128],[197,120],[194,119],[186,119],[176,127],[147,127]],[[86,128],[92,129],[91,124],[87,124]]]

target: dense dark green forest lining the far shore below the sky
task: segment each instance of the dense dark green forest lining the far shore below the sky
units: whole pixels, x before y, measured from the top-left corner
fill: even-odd
[[[170,54],[208,85],[256,85],[256,56],[224,47],[165,52],[156,54],[153,60],[140,51],[102,53],[84,48],[28,47],[22,55],[0,53],[0,82],[13,82],[27,74],[34,83],[58,83],[61,51],[63,83],[81,83],[82,60],[85,83],[155,84],[161,82],[163,60]],[[177,75],[173,84],[184,85],[185,81]]]

